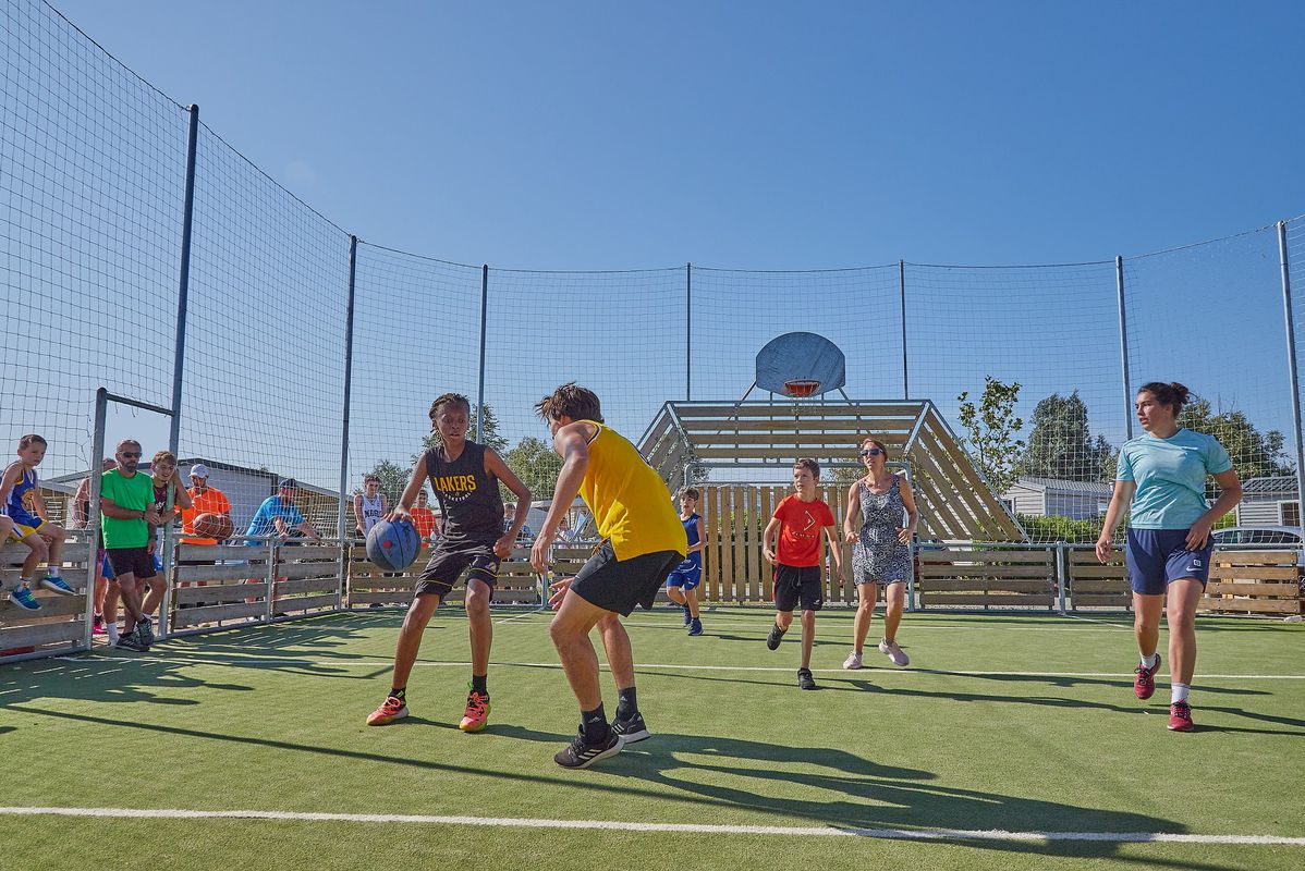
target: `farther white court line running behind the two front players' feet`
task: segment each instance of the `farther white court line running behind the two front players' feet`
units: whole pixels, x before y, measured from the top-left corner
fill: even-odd
[[[305,668],[318,666],[318,668],[331,668],[331,666],[365,666],[375,668],[376,665],[392,662],[393,657],[389,656],[359,656],[351,660],[309,660],[309,658],[295,658],[295,657],[227,657],[227,658],[207,658],[207,657],[184,657],[184,656],[167,656],[167,655],[149,655],[142,657],[115,657],[110,655],[97,655],[91,658],[73,658],[73,657],[51,657],[60,662],[130,662],[136,665],[300,665]],[[468,669],[471,662],[458,662],[453,660],[418,660],[414,665],[436,668],[436,669]],[[561,669],[561,665],[555,662],[497,662],[491,661],[489,665],[500,669],[521,668],[521,669]],[[608,670],[606,662],[599,664],[602,670]],[[658,670],[658,672],[782,672],[790,674],[793,672],[790,666],[774,666],[774,665],[696,665],[696,664],[683,664],[683,662],[636,662],[636,672],[642,670]],[[887,668],[864,668],[856,672],[847,669],[812,669],[814,674],[846,674],[846,675],[861,675],[861,677],[966,677],[966,678],[1128,678],[1135,677],[1133,672],[979,672],[979,670],[963,670],[963,669],[887,669]],[[1305,681],[1305,674],[1199,674],[1197,675],[1203,681]],[[13,692],[10,690],[9,692]]]

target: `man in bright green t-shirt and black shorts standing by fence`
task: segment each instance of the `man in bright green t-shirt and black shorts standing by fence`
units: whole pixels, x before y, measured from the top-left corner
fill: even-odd
[[[99,512],[103,515],[104,552],[114,567],[123,598],[125,619],[117,647],[147,651],[154,643],[154,627],[141,605],[145,583],[154,576],[154,558],[149,552],[150,524],[159,523],[154,510],[154,481],[136,467],[141,462],[141,443],[123,439],[114,455],[117,468],[104,472],[99,489]]]

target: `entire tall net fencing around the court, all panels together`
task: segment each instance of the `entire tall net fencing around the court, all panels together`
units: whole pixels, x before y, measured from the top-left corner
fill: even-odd
[[[397,495],[428,439],[431,400],[476,402],[482,372],[479,436],[547,498],[559,460],[532,406],[557,385],[592,387],[607,420],[638,441],[667,400],[731,403],[762,346],[810,331],[846,353],[852,399],[936,403],[1032,541],[1096,537],[1118,447],[1130,426],[1141,434],[1130,394],[1151,379],[1191,387],[1182,422],[1232,452],[1246,482],[1235,520],[1300,524],[1276,227],[1124,259],[1126,332],[1113,259],[483,273],[359,243],[347,366],[348,233],[202,125],[179,348],[187,124],[181,106],[48,4],[8,3],[0,449],[44,434],[47,479],[73,482],[91,464],[97,387],[168,407],[180,349],[180,454],[210,465],[239,525],[282,477],[303,485],[324,533],[367,472],[389,475]],[[1305,222],[1288,222],[1285,246],[1300,325]],[[166,445],[162,419],[124,426],[146,454]]]

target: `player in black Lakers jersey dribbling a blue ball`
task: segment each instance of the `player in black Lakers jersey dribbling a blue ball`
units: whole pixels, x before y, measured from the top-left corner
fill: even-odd
[[[440,600],[467,571],[467,623],[471,628],[471,685],[467,709],[458,724],[463,731],[480,731],[489,717],[489,645],[493,625],[489,622],[489,600],[499,575],[499,562],[512,555],[517,533],[530,511],[530,490],[508,468],[493,449],[467,439],[471,403],[461,394],[444,394],[431,403],[431,429],[440,434],[438,447],[418,458],[392,519],[410,519],[408,510],[422,486],[429,481],[440,501],[444,528],[431,562],[422,572],[416,595],[403,618],[399,642],[394,651],[394,678],[389,696],[367,718],[369,726],[384,726],[406,717],[407,679],[422,647],[422,632]],[[517,497],[517,515],[508,529],[502,528],[502,497],[499,481]]]

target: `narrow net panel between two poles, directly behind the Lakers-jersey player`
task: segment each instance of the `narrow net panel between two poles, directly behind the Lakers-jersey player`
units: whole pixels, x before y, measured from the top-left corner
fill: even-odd
[[[446,392],[476,402],[480,279],[479,266],[359,243],[346,498],[375,473],[394,502],[428,443],[431,402]]]

